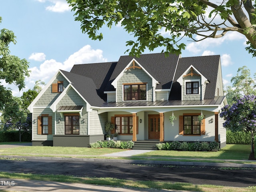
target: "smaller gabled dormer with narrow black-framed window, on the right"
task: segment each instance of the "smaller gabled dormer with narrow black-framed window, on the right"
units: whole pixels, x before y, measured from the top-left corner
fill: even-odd
[[[209,83],[193,65],[178,78],[181,85],[181,100],[204,100],[206,84]]]

